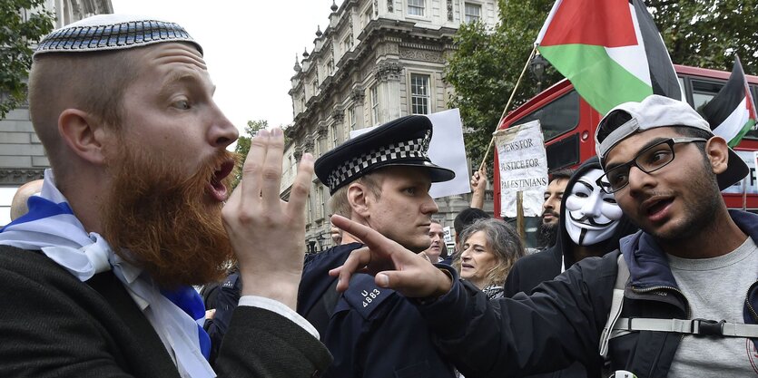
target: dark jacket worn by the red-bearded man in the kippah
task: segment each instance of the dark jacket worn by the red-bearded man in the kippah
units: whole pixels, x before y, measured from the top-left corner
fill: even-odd
[[[83,283],[39,252],[0,246],[0,287],[0,376],[179,377],[113,272]],[[213,367],[220,377],[310,377],[329,363],[299,325],[241,306]]]

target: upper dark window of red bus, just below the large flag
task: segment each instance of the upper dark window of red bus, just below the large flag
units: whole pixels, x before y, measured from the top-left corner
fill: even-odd
[[[576,128],[579,124],[579,94],[576,91],[568,92],[514,123],[523,124],[535,120],[539,120],[542,126],[545,141]]]

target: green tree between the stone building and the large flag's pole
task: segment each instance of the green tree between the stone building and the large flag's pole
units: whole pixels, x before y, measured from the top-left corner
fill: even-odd
[[[460,108],[468,131],[465,141],[472,164],[478,166],[484,159],[492,132],[552,5],[552,0],[501,0],[500,18],[507,21],[492,29],[479,23],[463,24],[458,29],[458,50],[448,60],[445,79],[456,90],[450,104]],[[546,88],[560,78],[555,70],[548,69],[541,87]],[[535,94],[537,80],[527,71],[509,111]],[[492,160],[487,160],[491,164]]]

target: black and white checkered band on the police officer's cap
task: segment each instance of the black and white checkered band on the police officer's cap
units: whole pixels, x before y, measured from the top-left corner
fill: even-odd
[[[423,159],[429,160],[429,132],[424,138],[382,146],[379,150],[370,150],[356,158],[350,159],[337,167],[329,175],[327,185],[331,191],[340,184],[355,177],[361,170],[366,170],[376,164],[390,160]]]

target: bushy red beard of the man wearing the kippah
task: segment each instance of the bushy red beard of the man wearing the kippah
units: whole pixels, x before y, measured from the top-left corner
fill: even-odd
[[[109,161],[113,185],[102,208],[103,237],[113,251],[163,288],[221,280],[234,254],[221,219],[223,204],[210,199],[207,186],[236,155],[221,150],[187,177],[174,157],[151,159],[139,146],[120,146]],[[230,191],[234,176],[221,180]]]

